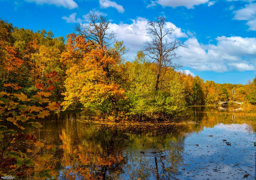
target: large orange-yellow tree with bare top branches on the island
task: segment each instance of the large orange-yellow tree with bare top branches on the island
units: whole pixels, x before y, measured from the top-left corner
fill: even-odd
[[[109,46],[114,38],[108,33],[108,21],[89,15],[90,23],[77,26],[77,34],[68,35],[63,63],[67,66],[64,109],[83,105],[103,113],[119,111],[124,99],[122,64],[118,51]]]

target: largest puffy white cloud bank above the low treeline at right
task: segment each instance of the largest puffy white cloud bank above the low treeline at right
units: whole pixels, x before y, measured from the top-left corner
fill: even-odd
[[[195,37],[189,38],[185,42],[188,48],[179,49],[180,62],[199,71],[226,72],[256,69],[256,38],[221,36],[216,40],[217,45],[204,45]]]

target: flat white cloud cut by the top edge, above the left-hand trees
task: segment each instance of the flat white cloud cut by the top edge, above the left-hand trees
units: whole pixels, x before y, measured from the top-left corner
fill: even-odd
[[[78,5],[73,0],[26,0],[28,2],[35,2],[36,4],[54,4],[56,6],[63,6],[68,9],[78,8]]]

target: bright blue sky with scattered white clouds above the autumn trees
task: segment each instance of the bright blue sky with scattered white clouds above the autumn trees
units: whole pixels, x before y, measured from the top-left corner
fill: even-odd
[[[256,1],[252,0],[0,0],[0,18],[33,31],[66,37],[86,15],[107,16],[116,39],[130,49],[148,40],[149,20],[165,16],[188,48],[179,48],[182,70],[216,83],[243,83],[256,75]]]

